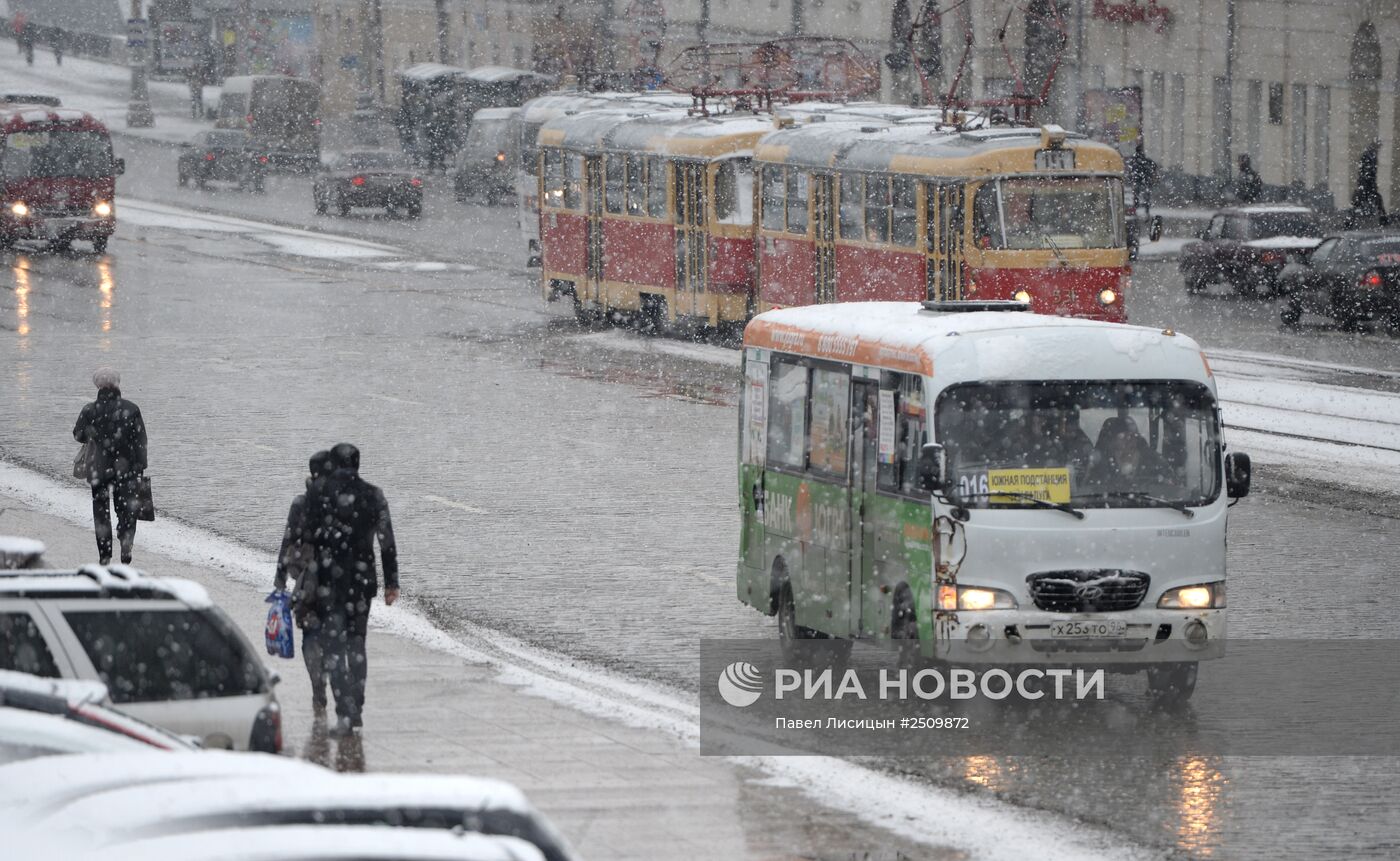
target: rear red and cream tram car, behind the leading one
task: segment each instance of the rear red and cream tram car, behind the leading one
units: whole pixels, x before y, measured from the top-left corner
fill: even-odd
[[[582,318],[741,325],[753,315],[753,147],[767,115],[599,109],[540,129],[546,298]]]

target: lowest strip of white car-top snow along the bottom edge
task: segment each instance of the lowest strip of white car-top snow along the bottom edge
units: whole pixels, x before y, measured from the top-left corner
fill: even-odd
[[[517,837],[391,826],[291,825],[150,837],[105,847],[104,860],[150,861],[543,861]]]

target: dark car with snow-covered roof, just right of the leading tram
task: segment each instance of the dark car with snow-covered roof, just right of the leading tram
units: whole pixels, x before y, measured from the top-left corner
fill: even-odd
[[[1239,295],[1275,293],[1278,273],[1322,238],[1317,213],[1305,206],[1256,204],[1224,209],[1177,265],[1187,293],[1225,281]]]

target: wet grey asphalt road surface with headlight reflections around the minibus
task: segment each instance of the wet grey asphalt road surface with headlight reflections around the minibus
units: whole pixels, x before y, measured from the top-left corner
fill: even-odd
[[[168,186],[123,182],[246,216],[304,200],[315,224],[301,179],[274,182],[266,200],[176,190],[172,174]],[[365,217],[351,230],[440,259],[455,259],[449,237],[479,242],[462,259],[480,272],[391,272],[132,227],[104,258],[0,256],[0,451],[64,475],[91,370],[113,364],[150,423],[161,508],[270,550],[305,456],[354,441],[389,494],[409,594],[434,617],[693,689],[697,638],[774,636],[734,599],[734,372],[580,333],[491,262],[508,258],[511,216],[476,207],[475,221],[451,221],[454,206],[440,196],[423,224]],[[1207,346],[1400,370],[1393,339],[1282,333],[1264,302],[1186,300],[1170,273],[1140,267],[1137,322]],[[1365,498],[1282,496],[1267,475],[1259,487],[1232,515],[1232,633],[1394,637],[1396,521]],[[1400,847],[1392,759],[888,764],[1189,855]]]

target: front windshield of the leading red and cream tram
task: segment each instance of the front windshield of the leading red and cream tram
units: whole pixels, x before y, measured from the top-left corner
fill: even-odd
[[[973,204],[979,248],[1119,248],[1123,183],[1113,176],[1012,176]]]

